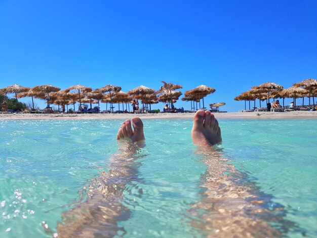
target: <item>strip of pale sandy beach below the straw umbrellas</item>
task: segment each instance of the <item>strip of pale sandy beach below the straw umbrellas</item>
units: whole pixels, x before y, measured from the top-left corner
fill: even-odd
[[[139,116],[142,119],[189,119],[194,113],[100,113],[100,114],[30,114],[12,113],[0,114],[0,120],[105,120],[128,119]],[[222,112],[214,113],[216,118],[252,118],[252,119],[281,119],[281,118],[317,118],[317,111],[289,111],[289,112]]]

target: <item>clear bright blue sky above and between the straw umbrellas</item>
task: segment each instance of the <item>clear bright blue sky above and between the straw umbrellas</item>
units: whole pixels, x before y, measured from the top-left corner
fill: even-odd
[[[183,93],[215,88],[205,104],[237,111],[244,102],[233,98],[252,86],[317,78],[316,43],[314,0],[0,0],[0,88],[112,84],[127,92],[164,80]]]

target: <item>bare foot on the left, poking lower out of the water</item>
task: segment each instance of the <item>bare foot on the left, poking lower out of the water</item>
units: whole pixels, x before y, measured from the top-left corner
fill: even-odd
[[[124,123],[122,123],[121,127],[118,130],[118,133],[116,134],[116,139],[126,139],[132,142],[143,141],[145,138],[143,133],[143,123],[141,119],[139,117],[132,118],[132,124],[134,130],[132,130],[130,120],[126,120]]]

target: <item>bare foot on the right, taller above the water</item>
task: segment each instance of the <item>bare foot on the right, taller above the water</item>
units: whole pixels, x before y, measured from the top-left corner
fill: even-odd
[[[210,146],[222,141],[218,121],[210,111],[196,111],[191,130],[191,139],[195,145]]]

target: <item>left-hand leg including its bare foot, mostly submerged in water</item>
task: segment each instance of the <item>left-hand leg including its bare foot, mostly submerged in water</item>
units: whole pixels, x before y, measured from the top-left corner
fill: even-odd
[[[137,179],[137,150],[144,140],[143,123],[139,117],[126,120],[117,132],[119,152],[110,158],[109,172],[102,172],[92,179],[86,189],[85,202],[62,214],[62,223],[57,226],[60,237],[112,237],[124,228],[118,227],[118,220],[127,220],[129,209],[122,205],[126,185]],[[125,146],[128,145],[128,146]]]

